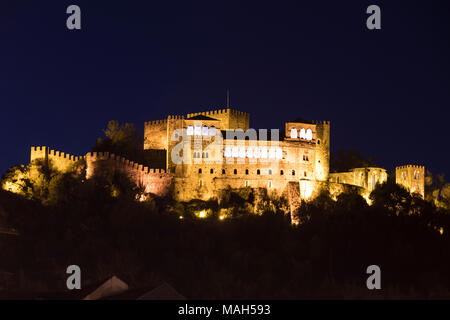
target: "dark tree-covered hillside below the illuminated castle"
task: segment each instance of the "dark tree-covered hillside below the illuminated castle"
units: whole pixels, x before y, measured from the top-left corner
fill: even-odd
[[[0,236],[0,269],[17,278],[10,289],[62,292],[66,267],[77,264],[83,285],[112,274],[131,287],[164,280],[194,299],[450,297],[449,212],[396,186],[379,186],[372,206],[356,192],[337,201],[323,193],[302,205],[302,224],[292,227],[270,211],[241,209],[223,221],[188,214],[245,208],[253,201],[246,190],[221,204],[137,202],[111,192],[127,188],[122,178],[103,179],[77,184],[53,206],[0,194],[20,232]],[[372,264],[382,270],[381,292],[366,288]]]

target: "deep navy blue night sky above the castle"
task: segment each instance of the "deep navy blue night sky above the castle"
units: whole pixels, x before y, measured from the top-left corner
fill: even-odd
[[[90,151],[108,120],[231,107],[254,128],[330,120],[332,150],[448,168],[445,1],[5,1],[0,172],[29,148]],[[66,28],[81,7],[82,30]],[[381,7],[381,30],[366,8]]]

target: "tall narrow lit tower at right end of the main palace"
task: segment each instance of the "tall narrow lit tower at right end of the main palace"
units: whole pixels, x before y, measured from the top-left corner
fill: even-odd
[[[314,123],[316,124],[316,179],[326,181],[330,172],[330,121]]]

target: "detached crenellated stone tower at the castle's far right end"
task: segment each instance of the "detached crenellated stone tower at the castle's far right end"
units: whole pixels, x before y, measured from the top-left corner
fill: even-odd
[[[395,182],[411,193],[425,197],[425,167],[406,165],[395,168]]]

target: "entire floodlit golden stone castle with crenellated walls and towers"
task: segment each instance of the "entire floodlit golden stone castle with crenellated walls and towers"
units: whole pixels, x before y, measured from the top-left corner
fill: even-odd
[[[351,185],[368,195],[387,180],[386,170],[375,167],[330,174],[329,121],[296,119],[279,131],[252,129],[250,115],[232,109],[173,115],[145,122],[143,148],[152,154],[150,166],[107,152],[73,157],[47,147],[32,147],[31,160],[51,159],[64,171],[83,159],[87,178],[100,167],[120,171],[147,193],[173,192],[179,201],[208,200],[229,187],[306,200],[322,188],[336,195]],[[396,181],[424,196],[424,167],[397,167]]]

